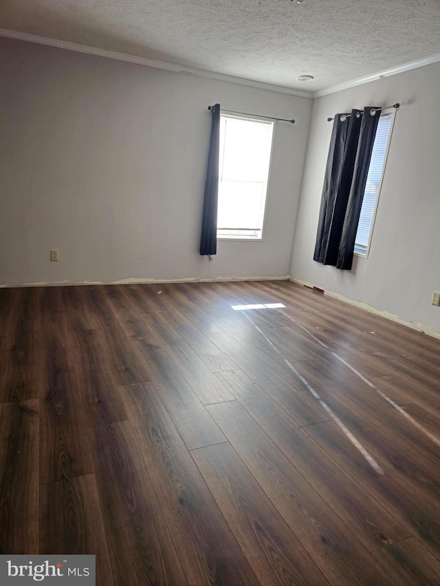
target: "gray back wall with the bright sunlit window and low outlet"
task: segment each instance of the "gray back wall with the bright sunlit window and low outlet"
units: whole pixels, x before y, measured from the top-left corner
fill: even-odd
[[[0,94],[0,284],[289,273],[311,100],[5,38]],[[263,242],[208,262],[215,102],[297,122],[276,124]]]

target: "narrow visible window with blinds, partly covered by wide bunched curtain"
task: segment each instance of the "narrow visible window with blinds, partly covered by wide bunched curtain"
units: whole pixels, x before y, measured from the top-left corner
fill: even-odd
[[[379,200],[382,177],[388,153],[388,145],[391,138],[391,129],[394,122],[394,110],[384,111],[380,115],[379,124],[377,124],[376,136],[373,144],[373,153],[369,172],[366,177],[364,199],[360,210],[358,232],[355,239],[355,253],[361,256],[368,256],[371,243],[371,234]]]

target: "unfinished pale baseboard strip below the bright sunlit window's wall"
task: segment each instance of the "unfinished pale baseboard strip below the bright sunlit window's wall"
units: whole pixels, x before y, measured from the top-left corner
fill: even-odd
[[[122,279],[119,281],[81,281],[81,282],[37,282],[37,283],[18,283],[18,284],[4,284],[0,285],[0,289],[11,289],[19,287],[71,287],[71,286],[87,286],[87,285],[131,285],[131,284],[166,284],[166,283],[223,283],[223,282],[236,282],[236,281],[288,281],[290,275],[278,275],[276,277],[215,277],[215,278],[202,278],[202,277],[186,277],[183,279]]]

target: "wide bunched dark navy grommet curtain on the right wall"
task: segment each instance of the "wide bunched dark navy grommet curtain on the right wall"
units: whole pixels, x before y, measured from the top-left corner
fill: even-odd
[[[336,114],[316,234],[314,260],[351,269],[366,175],[380,111],[368,106],[351,116]],[[342,117],[342,120],[341,120]]]

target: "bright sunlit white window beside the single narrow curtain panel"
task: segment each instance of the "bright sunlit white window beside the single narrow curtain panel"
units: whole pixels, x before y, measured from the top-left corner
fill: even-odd
[[[220,115],[217,238],[261,240],[274,122]]]

